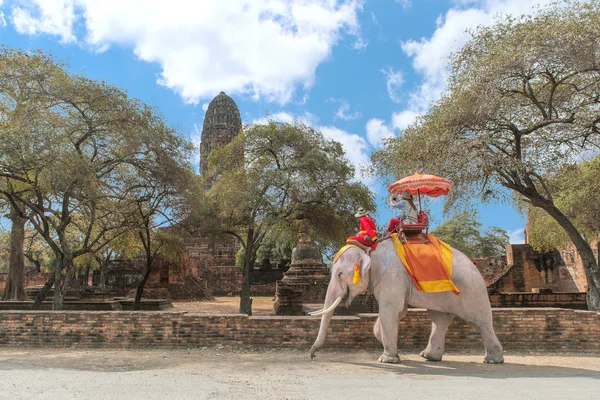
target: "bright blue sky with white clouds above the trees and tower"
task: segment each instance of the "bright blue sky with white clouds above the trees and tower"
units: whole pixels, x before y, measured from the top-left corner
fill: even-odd
[[[196,143],[207,104],[223,90],[244,123],[267,113],[299,119],[342,142],[360,167],[381,138],[400,135],[438,98],[466,29],[548,2],[0,0],[0,42],[50,51],[73,72],[126,89]],[[357,179],[377,192],[383,225],[392,182]],[[441,223],[441,202],[432,208]],[[484,227],[523,240],[514,209],[480,206],[479,214]]]

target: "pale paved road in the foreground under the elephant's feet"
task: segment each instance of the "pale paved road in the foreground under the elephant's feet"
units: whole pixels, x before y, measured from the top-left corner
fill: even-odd
[[[200,349],[190,351],[0,348],[0,399],[592,399],[600,355],[414,354],[402,364],[376,352]]]

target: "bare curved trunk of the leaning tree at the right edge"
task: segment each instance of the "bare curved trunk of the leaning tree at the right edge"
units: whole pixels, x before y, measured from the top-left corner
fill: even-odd
[[[533,199],[532,199],[533,200]],[[590,244],[579,234],[571,221],[548,200],[533,201],[535,206],[543,208],[567,232],[575,245],[588,283],[587,303],[591,311],[600,311],[600,267]]]

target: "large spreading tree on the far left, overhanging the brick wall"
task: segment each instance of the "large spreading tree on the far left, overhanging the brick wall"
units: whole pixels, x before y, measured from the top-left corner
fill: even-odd
[[[133,227],[130,177],[163,165],[181,139],[156,110],[41,52],[3,48],[0,93],[0,191],[54,253],[61,309],[74,259]]]

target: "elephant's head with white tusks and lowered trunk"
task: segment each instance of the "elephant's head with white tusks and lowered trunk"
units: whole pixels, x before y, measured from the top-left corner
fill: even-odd
[[[311,313],[313,316],[322,316],[319,335],[310,349],[311,359],[314,359],[315,352],[323,347],[329,322],[342,298],[347,295],[346,305],[349,307],[356,296],[367,291],[370,268],[371,257],[359,248],[349,248],[333,263],[324,307]]]

